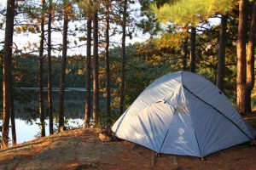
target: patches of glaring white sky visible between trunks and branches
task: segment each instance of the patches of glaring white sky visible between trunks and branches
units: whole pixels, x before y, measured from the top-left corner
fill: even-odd
[[[140,4],[135,3],[134,5],[130,5],[130,8],[139,8]],[[0,10],[3,10],[3,8],[6,8],[6,0],[0,0]],[[20,17],[19,17],[20,18]],[[4,20],[4,16],[0,15],[0,20]],[[79,21],[74,21],[69,23],[69,30],[72,32],[75,29],[75,26],[81,27],[84,26],[85,20],[79,20]],[[62,23],[55,24],[55,27],[57,26],[62,26]],[[46,28],[47,29],[47,28]],[[86,53],[86,45],[85,42],[79,42],[79,37],[84,36],[85,32],[83,33],[78,33],[76,37],[69,35],[68,36],[68,41],[70,42],[67,55],[74,55],[74,54],[85,54]],[[14,43],[15,43],[15,48],[17,47],[19,50],[22,50],[25,53],[28,53],[32,50],[36,50],[35,54],[38,53],[38,48],[33,48],[33,44],[39,44],[40,42],[40,34],[39,33],[17,33],[15,32],[14,35]],[[120,46],[121,44],[121,37],[122,35],[115,35],[114,37],[110,37],[110,42],[114,46]],[[133,42],[143,42],[148,39],[147,35],[143,35],[141,31],[137,31],[136,35],[133,34],[132,39],[126,38],[126,43],[133,43]],[[4,26],[0,29],[0,42],[4,41]],[[53,32],[52,33],[52,43],[53,44],[60,44],[62,42],[62,35],[61,32]],[[74,44],[74,42],[78,42],[77,44]],[[31,49],[26,49],[24,51],[24,48],[31,47]],[[3,48],[0,47],[0,48]],[[111,46],[110,46],[111,48]],[[54,55],[61,55],[61,51],[53,51]]]

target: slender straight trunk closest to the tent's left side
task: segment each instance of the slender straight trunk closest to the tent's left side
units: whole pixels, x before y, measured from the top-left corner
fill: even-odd
[[[127,11],[127,0],[124,2],[123,11],[123,23],[122,23],[122,61],[121,61],[121,88],[120,88],[120,103],[119,103],[119,114],[124,112],[124,100],[125,100],[125,37],[126,37],[126,11]]]

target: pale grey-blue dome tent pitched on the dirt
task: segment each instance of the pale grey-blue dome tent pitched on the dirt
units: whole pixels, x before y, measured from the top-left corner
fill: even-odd
[[[256,135],[212,82],[187,71],[152,82],[112,130],[118,138],[157,153],[198,157]]]

